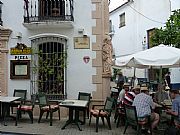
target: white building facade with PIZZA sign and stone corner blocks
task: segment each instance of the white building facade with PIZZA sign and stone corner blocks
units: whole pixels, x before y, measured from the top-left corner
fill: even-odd
[[[67,55],[61,90],[51,83],[57,81],[57,65],[51,77],[40,79],[48,82],[41,87],[47,94],[77,98],[84,91],[95,99],[108,95],[110,77],[103,77],[102,65],[102,44],[109,31],[108,0],[1,0],[1,10],[2,95],[12,96],[14,89],[28,90],[28,97],[38,92],[36,81],[43,73],[33,75],[33,62],[38,64],[39,58],[19,53],[27,48],[40,50],[46,59],[57,52]]]

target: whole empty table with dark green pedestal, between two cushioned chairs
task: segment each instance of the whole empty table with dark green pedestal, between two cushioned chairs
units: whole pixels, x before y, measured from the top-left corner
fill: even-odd
[[[68,126],[71,123],[75,123],[80,131],[82,129],[79,126],[79,109],[82,110],[82,108],[86,109],[88,105],[88,101],[85,100],[64,100],[60,104],[60,106],[66,107],[69,109],[69,118],[66,121],[65,125],[61,129],[65,129],[66,126]],[[75,111],[75,116],[73,116],[73,112]]]

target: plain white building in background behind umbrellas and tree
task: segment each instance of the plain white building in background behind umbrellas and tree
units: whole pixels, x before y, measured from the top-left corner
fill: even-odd
[[[115,56],[120,57],[147,49],[151,46],[151,31],[163,27],[172,14],[171,11],[179,8],[179,0],[129,0],[112,10],[110,21]],[[124,70],[124,73],[133,76],[131,70]],[[175,77],[174,70],[171,75],[172,83],[180,82],[177,74]],[[147,70],[137,71],[137,77],[147,77]]]

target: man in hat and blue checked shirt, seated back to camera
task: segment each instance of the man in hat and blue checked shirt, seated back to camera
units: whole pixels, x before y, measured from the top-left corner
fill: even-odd
[[[151,116],[151,128],[154,129],[159,123],[159,114],[153,112],[155,104],[152,97],[149,95],[147,87],[141,87],[141,93],[136,95],[133,101],[133,106],[136,107],[137,116],[139,119]]]

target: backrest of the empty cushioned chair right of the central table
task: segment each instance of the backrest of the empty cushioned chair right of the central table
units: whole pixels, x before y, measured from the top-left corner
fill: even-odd
[[[110,115],[111,115],[111,112],[113,109],[113,105],[114,105],[114,98],[107,97],[106,102],[105,102],[105,106],[104,106],[104,110],[106,112],[108,112]]]

